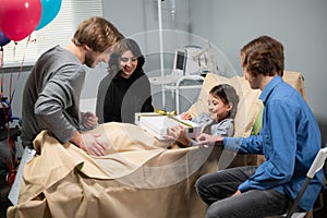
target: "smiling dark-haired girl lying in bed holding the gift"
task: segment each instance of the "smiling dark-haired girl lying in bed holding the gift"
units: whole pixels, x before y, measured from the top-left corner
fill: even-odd
[[[186,111],[181,113],[181,119],[192,120],[203,126],[203,132],[215,136],[233,136],[233,119],[237,113],[239,96],[233,86],[220,84],[209,92],[208,113],[202,112],[197,117]],[[182,125],[170,128],[167,131],[167,138],[177,141],[180,146],[193,146],[196,142],[185,135]]]

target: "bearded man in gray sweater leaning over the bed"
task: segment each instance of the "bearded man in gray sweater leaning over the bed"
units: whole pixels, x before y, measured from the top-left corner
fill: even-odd
[[[108,62],[110,51],[122,34],[107,20],[90,17],[82,22],[66,47],[56,46],[35,63],[23,93],[22,143],[48,130],[62,144],[71,142],[90,155],[105,155],[98,134],[82,134],[97,125],[97,117],[80,112],[80,96],[85,80],[83,64],[94,68]]]

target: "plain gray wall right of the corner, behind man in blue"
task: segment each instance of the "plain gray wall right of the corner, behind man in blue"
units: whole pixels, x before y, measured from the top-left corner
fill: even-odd
[[[194,34],[208,37],[240,68],[242,46],[270,35],[284,46],[286,70],[304,75],[308,104],[327,141],[327,1],[326,0],[190,0]]]

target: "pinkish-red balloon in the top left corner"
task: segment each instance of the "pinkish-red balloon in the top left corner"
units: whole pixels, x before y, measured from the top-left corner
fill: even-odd
[[[1,0],[0,29],[11,40],[19,41],[31,35],[40,16],[40,0]]]

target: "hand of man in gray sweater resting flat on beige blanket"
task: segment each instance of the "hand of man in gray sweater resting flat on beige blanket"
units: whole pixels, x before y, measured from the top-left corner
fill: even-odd
[[[104,156],[106,155],[107,145],[99,140],[100,134],[82,134],[83,147],[89,155]]]

